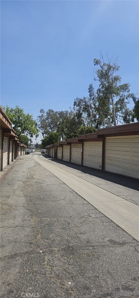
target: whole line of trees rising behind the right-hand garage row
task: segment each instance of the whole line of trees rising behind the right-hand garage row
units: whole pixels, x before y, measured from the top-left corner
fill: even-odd
[[[40,110],[38,127],[43,136],[57,132],[60,140],[65,141],[98,128],[134,122],[135,117],[139,119],[138,99],[130,93],[129,83],[121,84],[117,60],[108,58],[104,62],[101,55],[100,59],[94,59],[94,66],[95,81],[99,83],[96,91],[90,84],[88,96],[76,97],[70,111]],[[128,107],[131,99],[135,103],[133,110]]]

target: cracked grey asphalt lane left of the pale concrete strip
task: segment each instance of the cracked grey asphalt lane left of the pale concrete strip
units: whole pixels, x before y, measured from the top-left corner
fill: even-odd
[[[1,182],[1,298],[139,297],[138,241],[33,156]]]

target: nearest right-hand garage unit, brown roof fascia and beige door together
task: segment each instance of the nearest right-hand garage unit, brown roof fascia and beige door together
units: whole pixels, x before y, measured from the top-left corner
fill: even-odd
[[[139,122],[99,129],[103,138],[102,170],[139,179]]]

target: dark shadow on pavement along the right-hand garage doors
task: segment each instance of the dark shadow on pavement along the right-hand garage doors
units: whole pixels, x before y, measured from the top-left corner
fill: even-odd
[[[128,188],[132,188],[134,190],[139,190],[138,179],[122,176],[120,174],[114,174],[114,173],[110,173],[110,172],[106,172],[106,171],[97,170],[97,169],[93,169],[93,168],[86,167],[86,166],[81,166],[79,164],[65,162],[60,159],[51,158],[50,156],[47,156],[46,154],[40,153],[40,155],[43,155],[43,157],[45,157],[46,159],[52,160],[56,164],[64,164],[69,168],[72,168],[75,170],[80,170],[80,171],[82,171],[82,173],[89,174],[91,176],[95,176],[97,178],[104,179],[106,181],[110,181],[110,182],[113,182],[113,183],[116,183],[116,184],[119,184],[119,185],[122,185],[122,186],[125,186]]]

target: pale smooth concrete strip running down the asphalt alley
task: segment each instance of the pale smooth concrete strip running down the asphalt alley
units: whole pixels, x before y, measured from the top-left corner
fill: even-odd
[[[33,159],[139,241],[139,206],[39,159],[38,155]]]

